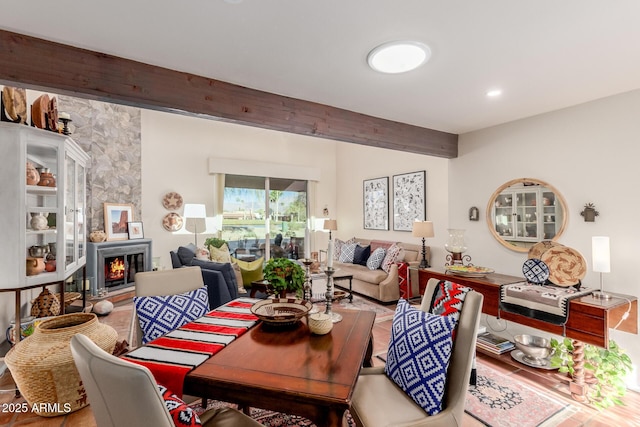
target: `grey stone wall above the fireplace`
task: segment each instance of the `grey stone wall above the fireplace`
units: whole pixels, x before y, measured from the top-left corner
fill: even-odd
[[[132,204],[141,219],[140,109],[58,95],[58,110],[71,115],[71,137],[91,156],[87,233],[104,230],[104,203]]]

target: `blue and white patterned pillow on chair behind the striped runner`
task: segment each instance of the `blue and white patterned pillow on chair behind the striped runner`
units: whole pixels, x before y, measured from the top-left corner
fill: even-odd
[[[142,329],[142,343],[204,316],[209,310],[207,288],[177,295],[134,297],[133,304]]]

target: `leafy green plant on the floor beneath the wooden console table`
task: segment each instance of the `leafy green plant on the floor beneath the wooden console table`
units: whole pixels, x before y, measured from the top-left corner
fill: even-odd
[[[551,366],[573,377],[575,373],[573,351],[573,340],[565,338],[558,341],[552,338]],[[589,386],[587,391],[589,402],[599,409],[623,405],[620,397],[627,391],[624,380],[632,370],[631,358],[613,340],[609,341],[608,349],[586,344],[583,354],[585,382]]]

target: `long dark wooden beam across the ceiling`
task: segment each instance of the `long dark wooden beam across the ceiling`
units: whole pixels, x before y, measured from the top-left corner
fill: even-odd
[[[444,158],[458,135],[0,30],[0,82]]]

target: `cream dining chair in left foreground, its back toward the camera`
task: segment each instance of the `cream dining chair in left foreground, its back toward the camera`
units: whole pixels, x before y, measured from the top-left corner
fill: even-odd
[[[98,427],[175,425],[147,368],[107,353],[82,334],[74,335],[70,346]],[[199,418],[208,427],[262,425],[233,408],[210,409]]]

